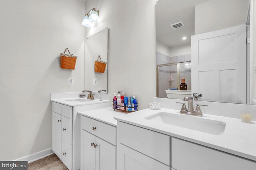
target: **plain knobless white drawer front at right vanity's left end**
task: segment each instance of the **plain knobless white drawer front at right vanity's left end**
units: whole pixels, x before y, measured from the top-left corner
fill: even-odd
[[[118,122],[118,142],[168,166],[171,164],[171,137],[166,134]]]

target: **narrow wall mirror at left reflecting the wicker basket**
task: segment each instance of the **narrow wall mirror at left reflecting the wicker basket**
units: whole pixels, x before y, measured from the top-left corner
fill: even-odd
[[[102,61],[108,62],[108,28],[84,40],[84,89],[94,92],[102,89],[108,92],[108,64],[104,73],[94,71],[98,56]]]

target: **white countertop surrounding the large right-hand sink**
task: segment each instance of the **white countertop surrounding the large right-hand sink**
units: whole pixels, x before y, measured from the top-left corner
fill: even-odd
[[[105,113],[107,109],[100,110],[98,111]],[[97,115],[97,117],[101,116],[100,112],[98,113],[99,115]],[[191,130],[188,128],[182,128],[174,125],[168,125],[165,123],[159,123],[156,121],[144,119],[144,117],[148,117],[159,112],[167,112],[180,115],[180,111],[172,109],[144,109],[141,111],[128,114],[112,113],[113,115],[110,114],[109,117],[107,115],[108,111],[106,111],[106,117],[108,117],[108,119],[111,119],[112,116],[114,116],[114,119],[118,121],[154,130],[156,132],[188,140],[190,142],[208,146],[210,148],[214,148],[217,150],[222,150],[230,154],[242,156],[244,158],[256,161],[256,121],[253,121],[251,123],[244,123],[240,119],[204,114],[203,117],[200,117],[200,119],[211,119],[226,123],[226,128],[224,132],[219,135],[214,135],[196,130]],[[86,115],[87,114],[89,114],[89,112],[86,113]],[[94,118],[93,113],[90,113],[90,116]],[[100,118],[98,118],[98,120],[99,119]],[[104,117],[102,117],[101,119],[104,119]]]

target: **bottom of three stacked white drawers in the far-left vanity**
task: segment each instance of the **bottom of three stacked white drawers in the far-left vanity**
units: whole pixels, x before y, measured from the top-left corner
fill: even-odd
[[[69,170],[72,170],[72,145],[63,139],[61,140],[61,160]]]

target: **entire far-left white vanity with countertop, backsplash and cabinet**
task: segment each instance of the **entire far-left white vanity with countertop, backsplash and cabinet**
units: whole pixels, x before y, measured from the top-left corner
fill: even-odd
[[[80,117],[78,111],[109,107],[109,95],[99,101],[80,98],[81,92],[51,93],[52,101],[52,150],[70,170],[79,169]]]

